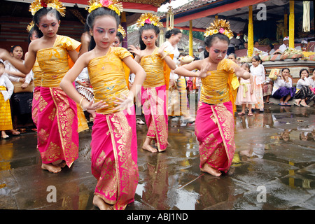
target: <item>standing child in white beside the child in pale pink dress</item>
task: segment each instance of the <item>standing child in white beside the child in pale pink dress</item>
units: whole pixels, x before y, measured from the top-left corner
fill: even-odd
[[[262,94],[262,85],[265,82],[265,69],[260,64],[260,57],[258,55],[251,59],[251,74],[254,78],[254,94],[257,99],[257,103],[253,104],[253,109],[259,109],[260,112],[264,111],[264,97]]]

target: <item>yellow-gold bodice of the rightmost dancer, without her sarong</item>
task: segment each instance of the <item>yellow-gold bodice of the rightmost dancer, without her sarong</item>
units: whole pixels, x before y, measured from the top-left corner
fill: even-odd
[[[220,104],[232,100],[232,91],[239,86],[234,66],[237,65],[232,60],[223,59],[216,71],[208,71],[210,75],[202,78],[201,102]]]

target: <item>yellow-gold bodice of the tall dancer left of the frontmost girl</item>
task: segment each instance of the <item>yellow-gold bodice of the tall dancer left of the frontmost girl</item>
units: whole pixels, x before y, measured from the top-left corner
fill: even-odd
[[[69,71],[68,51],[76,50],[79,46],[80,42],[73,38],[57,35],[52,48],[38,50],[37,60],[42,71],[41,86],[59,87]]]

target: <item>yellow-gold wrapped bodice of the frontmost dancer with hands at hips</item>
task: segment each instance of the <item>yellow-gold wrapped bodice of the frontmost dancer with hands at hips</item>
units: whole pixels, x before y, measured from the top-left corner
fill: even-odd
[[[113,109],[120,94],[127,96],[129,90],[125,78],[123,61],[125,57],[132,56],[125,48],[110,48],[105,56],[96,57],[90,60],[87,70],[90,76],[90,83],[93,87],[94,101],[103,100],[109,106],[105,109],[98,109],[97,113],[115,113]]]

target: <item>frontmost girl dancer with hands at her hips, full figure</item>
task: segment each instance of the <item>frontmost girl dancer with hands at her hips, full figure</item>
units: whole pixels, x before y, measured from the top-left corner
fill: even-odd
[[[83,109],[97,113],[91,141],[92,174],[97,179],[93,204],[99,209],[125,209],[134,201],[139,179],[134,96],[141,90],[146,73],[127,49],[112,46],[122,3],[101,2],[89,1],[87,8],[92,50],[79,57],[60,86]],[[130,71],[125,71],[123,62],[136,74],[130,90],[126,80]],[[72,85],[86,66],[94,102],[87,102]]]

